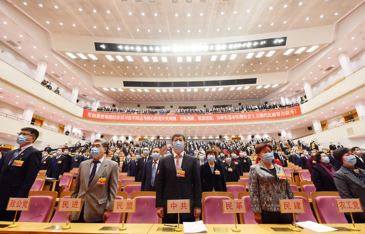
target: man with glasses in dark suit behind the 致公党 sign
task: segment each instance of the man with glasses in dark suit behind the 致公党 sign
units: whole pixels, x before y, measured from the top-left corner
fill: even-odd
[[[15,211],[7,211],[9,198],[27,198],[37,177],[42,153],[33,148],[39,132],[30,127],[22,128],[16,138],[19,148],[7,152],[0,161],[0,221],[13,221]],[[17,160],[17,165],[14,161]],[[16,220],[19,219],[18,212]]]

